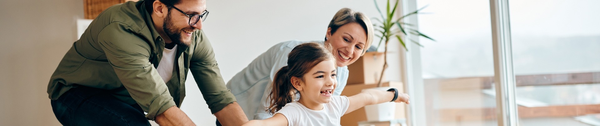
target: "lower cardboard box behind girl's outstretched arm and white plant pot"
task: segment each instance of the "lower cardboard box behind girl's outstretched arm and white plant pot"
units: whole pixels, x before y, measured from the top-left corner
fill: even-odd
[[[366,55],[366,54],[365,54]],[[402,82],[385,82],[383,83],[383,87],[394,87],[397,88],[399,93],[404,93],[404,85]],[[377,87],[376,84],[351,84],[346,85],[344,91],[341,93],[342,96],[354,96],[365,88],[373,88]],[[396,112],[394,118],[406,118],[405,109],[406,103],[396,103]],[[353,112],[347,113],[344,116],[341,116],[340,124],[347,126],[358,126],[358,122],[367,121],[367,113],[365,112],[365,108],[361,107],[360,109],[356,109]]]

